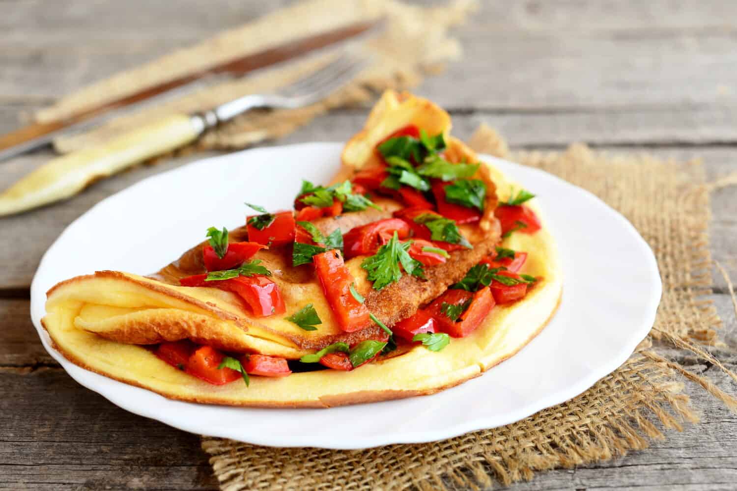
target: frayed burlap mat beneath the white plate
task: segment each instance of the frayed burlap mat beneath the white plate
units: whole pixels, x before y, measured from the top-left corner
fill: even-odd
[[[562,153],[511,154],[488,127],[481,127],[470,144],[587,188],[638,228],[663,278],[663,302],[648,338],[625,364],[578,397],[511,425],[441,442],[329,451],[203,437],[223,490],[448,490],[489,487],[495,480],[511,484],[540,470],[642,450],[652,439],[665,438],[661,428],[681,431],[684,423],[696,423],[696,411],[681,393],[683,380],[737,412],[731,395],[652,349],[651,339],[668,342],[735,377],[702,345],[719,345],[721,322],[705,299],[710,293],[710,188],[700,163],[610,156],[583,145]]]

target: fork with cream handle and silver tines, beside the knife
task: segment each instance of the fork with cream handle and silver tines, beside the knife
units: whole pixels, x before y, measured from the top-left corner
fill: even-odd
[[[0,194],[0,216],[72,197],[94,181],[191,144],[207,130],[256,107],[314,104],[350,82],[368,62],[365,56],[345,52],[274,93],[249,94],[200,113],[167,116],[99,146],[49,160]]]

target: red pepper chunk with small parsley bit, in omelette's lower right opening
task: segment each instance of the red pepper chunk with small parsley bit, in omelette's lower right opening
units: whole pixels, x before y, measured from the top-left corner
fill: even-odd
[[[441,312],[441,305],[443,302],[450,303],[452,305],[461,305],[471,299],[466,311],[461,314],[455,322],[450,320],[445,314]],[[430,304],[430,311],[433,312],[435,319],[438,321],[438,328],[440,331],[450,334],[455,338],[462,338],[468,336],[470,333],[476,330],[483,319],[489,315],[489,312],[494,308],[495,302],[492,292],[488,286],[484,286],[481,290],[472,294],[465,290],[448,290],[441,297]]]

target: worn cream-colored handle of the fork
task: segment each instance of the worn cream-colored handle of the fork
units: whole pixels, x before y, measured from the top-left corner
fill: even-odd
[[[49,160],[0,194],[0,216],[72,197],[96,180],[195,141],[202,131],[202,121],[178,114]]]

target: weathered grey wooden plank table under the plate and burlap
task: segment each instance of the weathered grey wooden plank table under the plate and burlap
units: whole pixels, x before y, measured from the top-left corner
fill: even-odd
[[[288,3],[2,1],[0,133],[18,125],[19,113]],[[489,1],[458,31],[465,59],[418,92],[450,110],[461,138],[483,121],[515,149],[571,141],[644,149],[702,158],[716,180],[737,171],[736,17],[733,1]],[[279,143],[343,141],[365,117],[365,110],[336,111]],[[50,155],[0,164],[0,188]],[[198,436],[128,414],[72,381],[41,347],[28,314],[32,275],[66,225],[109,194],[201,157],[133,169],[69,202],[0,219],[0,488],[217,487]],[[713,259],[737,278],[737,188],[712,197]],[[713,292],[735,346],[735,311],[716,273]],[[715,353],[737,368],[735,351]],[[737,395],[711,364],[670,355]],[[686,391],[702,410],[701,425],[668,431],[647,451],[542,473],[514,489],[734,489],[737,416],[693,386]]]

